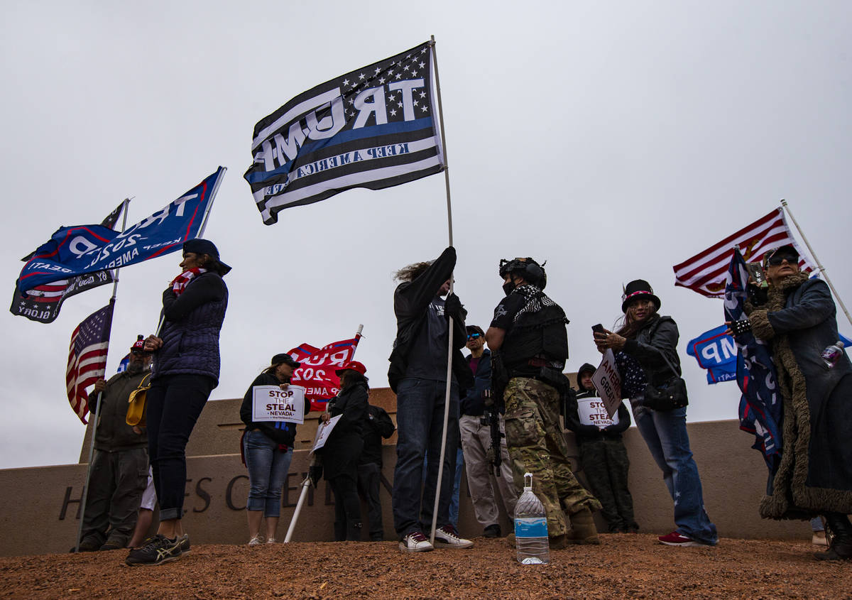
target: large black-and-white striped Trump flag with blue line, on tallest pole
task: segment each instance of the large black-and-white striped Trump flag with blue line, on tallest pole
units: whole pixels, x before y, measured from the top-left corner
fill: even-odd
[[[382,189],[444,166],[431,43],[297,95],[255,125],[245,171],[263,222],[352,187]]]

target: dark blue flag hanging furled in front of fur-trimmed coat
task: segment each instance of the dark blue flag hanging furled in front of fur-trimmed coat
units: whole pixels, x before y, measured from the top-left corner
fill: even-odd
[[[725,286],[725,320],[746,319],[748,270],[740,251],[734,249]],[[755,436],[752,444],[763,453],[773,475],[781,455],[781,396],[769,349],[751,332],[734,337],[737,344],[737,384],[740,386],[740,429]]]

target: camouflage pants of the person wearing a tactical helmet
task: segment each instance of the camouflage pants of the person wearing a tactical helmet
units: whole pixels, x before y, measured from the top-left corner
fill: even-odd
[[[533,493],[544,505],[548,535],[567,534],[570,515],[584,508],[597,511],[601,503],[571,471],[559,424],[559,392],[538,379],[518,377],[509,380],[503,397],[515,487],[523,489],[524,473],[532,473]]]

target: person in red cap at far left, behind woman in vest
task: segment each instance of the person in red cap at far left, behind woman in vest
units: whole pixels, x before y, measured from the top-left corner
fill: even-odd
[[[124,548],[133,534],[147,483],[148,443],[145,431],[125,419],[130,392],[150,366],[151,354],[139,336],[130,346],[127,368],[109,381],[96,381],[89,394],[89,410],[93,415],[97,410],[98,422],[80,551]]]

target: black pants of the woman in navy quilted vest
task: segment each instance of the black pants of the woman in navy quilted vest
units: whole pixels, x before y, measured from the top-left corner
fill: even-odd
[[[160,521],[183,516],[187,441],[216,380],[206,375],[164,375],[146,399],[148,456],[160,506]]]

